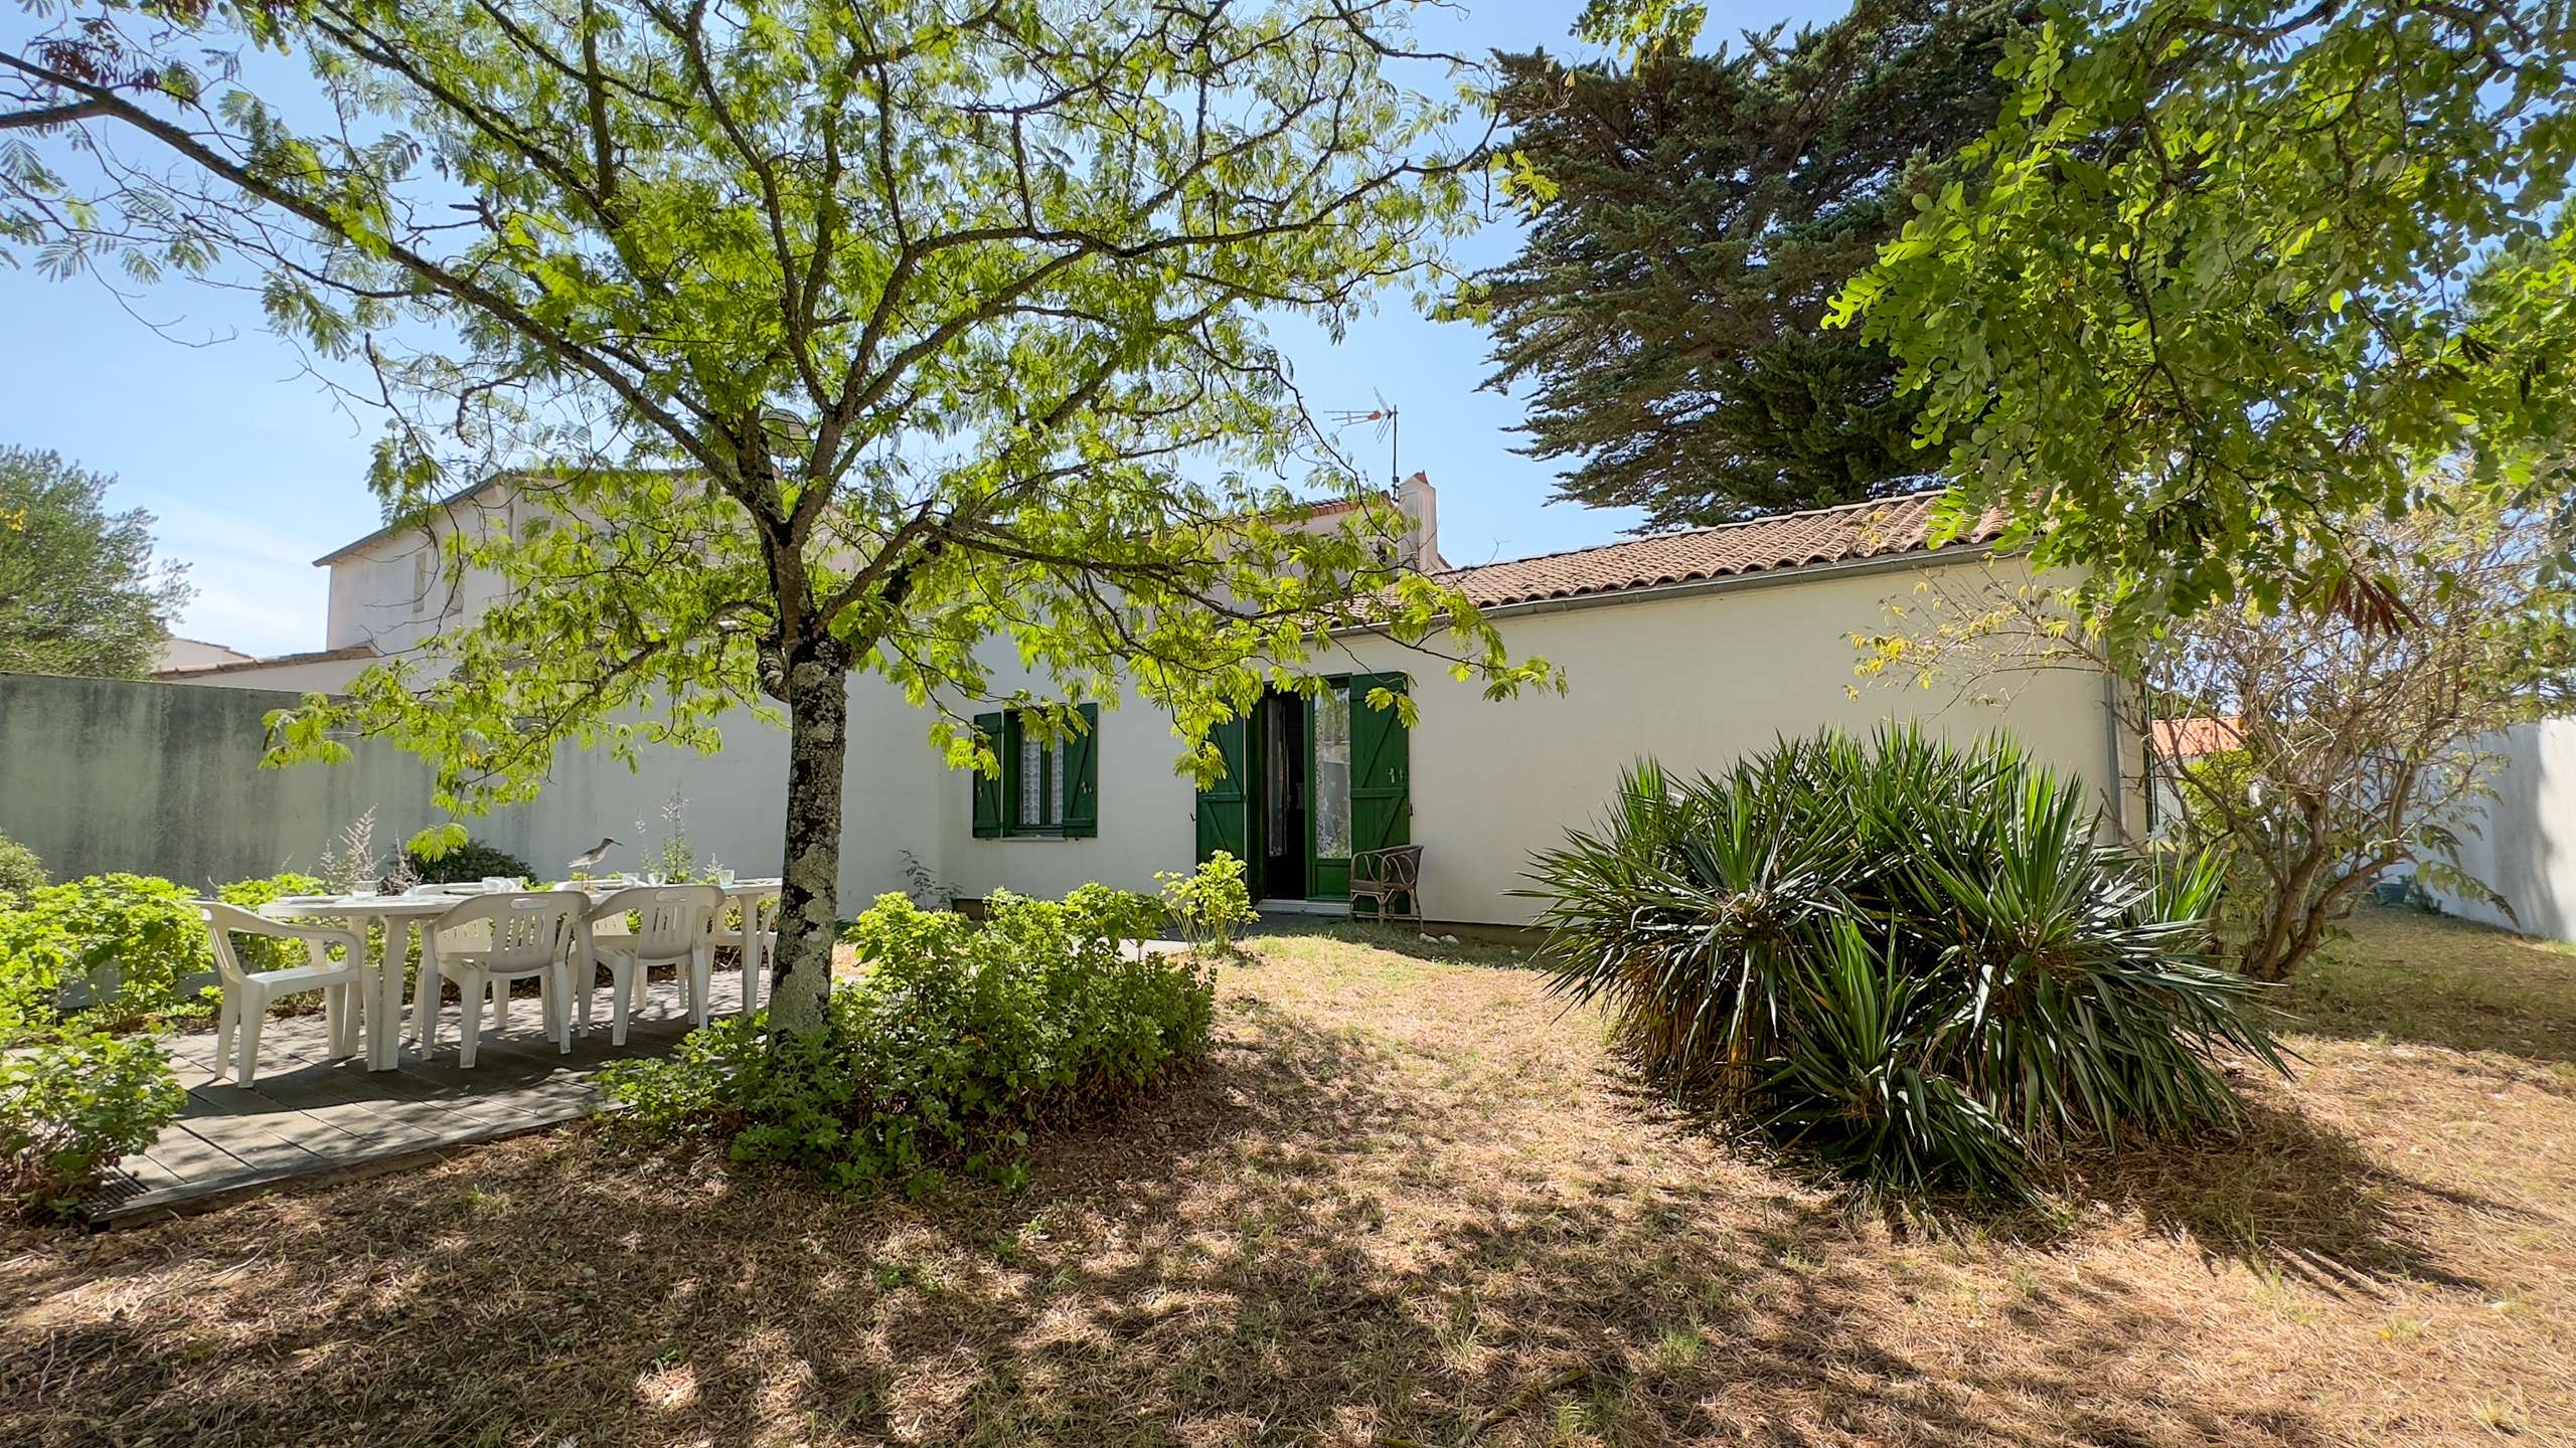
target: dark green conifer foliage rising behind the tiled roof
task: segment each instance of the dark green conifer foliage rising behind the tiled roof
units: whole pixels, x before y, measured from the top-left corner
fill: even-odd
[[[1922,399],[1824,309],[1994,124],[2025,13],[1862,0],[1739,52],[1499,59],[1494,108],[1543,186],[1463,301],[1494,327],[1486,386],[1530,389],[1530,456],[1574,464],[1561,497],[1654,531],[1924,487]]]

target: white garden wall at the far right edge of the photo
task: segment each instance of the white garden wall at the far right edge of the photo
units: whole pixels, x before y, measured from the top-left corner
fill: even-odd
[[[2486,739],[2504,755],[2496,799],[2460,866],[2501,894],[2514,915],[2439,894],[2442,910],[2553,940],[2576,940],[2576,719],[2517,724]]]

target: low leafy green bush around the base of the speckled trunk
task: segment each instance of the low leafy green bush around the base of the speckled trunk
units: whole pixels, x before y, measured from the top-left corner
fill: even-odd
[[[842,1190],[922,1190],[951,1167],[1018,1185],[1033,1126],[1123,1105],[1206,1051],[1211,982],[1123,958],[1128,902],[1005,891],[974,922],[884,894],[850,928],[868,974],[819,1031],[773,1041],[734,1015],[603,1085],[649,1129],[726,1136],[739,1162]]]

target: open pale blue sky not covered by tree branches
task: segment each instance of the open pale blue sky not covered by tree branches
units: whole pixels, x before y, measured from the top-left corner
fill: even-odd
[[[1463,0],[1455,13],[1427,13],[1422,39],[1566,54],[1579,8]],[[1844,8],[1716,3],[1703,39]],[[1458,260],[1486,265],[1512,250],[1504,222],[1468,237]],[[157,515],[162,554],[185,562],[198,590],[178,631],[255,654],[319,649],[327,590],[312,559],[379,523],[366,490],[376,420],[337,410],[304,374],[301,353],[260,327],[258,301],[242,291],[170,283],[118,301],[95,283],[0,271],[0,317],[10,335],[0,348],[0,443],[52,448],[116,474],[111,505]],[[1486,376],[1479,327],[1396,307],[1352,327],[1340,348],[1303,332],[1288,345],[1319,410],[1370,407],[1383,394],[1404,412],[1401,464],[1440,487],[1450,562],[1600,544],[1631,526],[1625,513],[1546,502],[1551,469],[1512,453],[1522,405],[1476,389]],[[1370,472],[1383,466],[1383,443],[1370,433],[1355,430],[1350,443]]]

